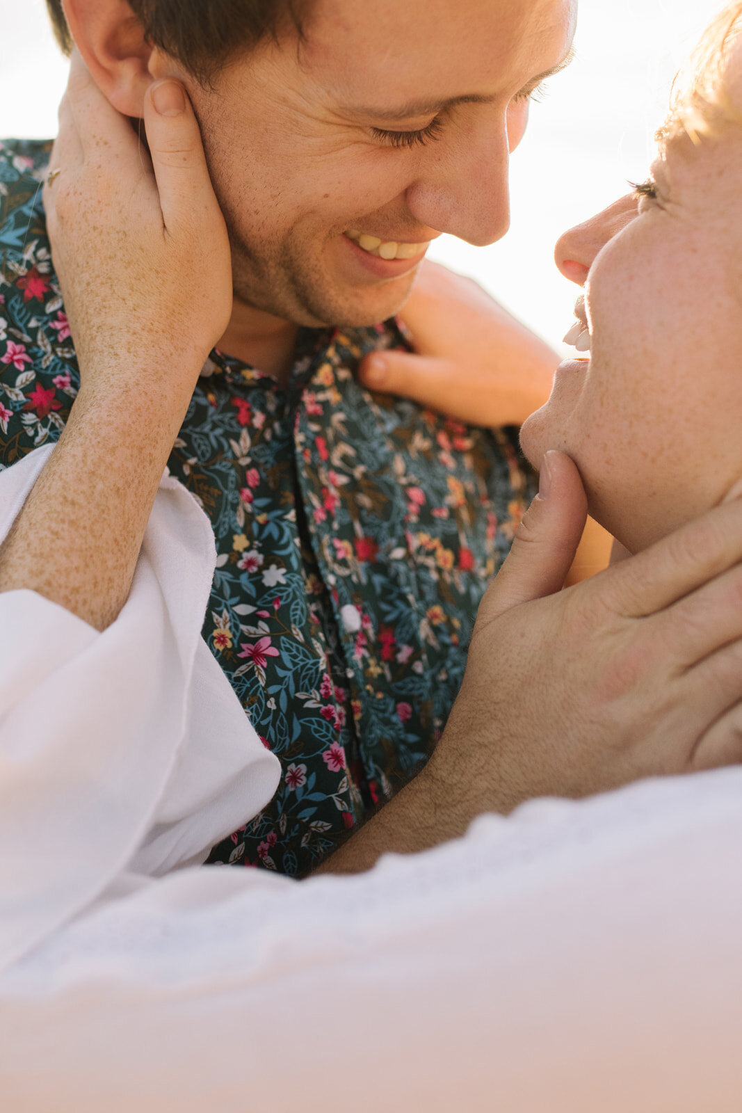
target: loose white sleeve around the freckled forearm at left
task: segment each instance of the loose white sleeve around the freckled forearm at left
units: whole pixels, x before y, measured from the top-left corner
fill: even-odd
[[[0,543],[51,451],[0,473]],[[278,760],[200,637],[214,564],[206,515],[165,476],[102,633],[0,593],[0,968],[122,870],[202,860],[274,795]]]

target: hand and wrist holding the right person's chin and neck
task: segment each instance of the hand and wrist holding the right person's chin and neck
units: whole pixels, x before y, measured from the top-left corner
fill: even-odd
[[[431,761],[326,869],[424,849],[535,796],[742,760],[742,500],[562,591],[586,501],[567,456],[547,453],[542,476]]]

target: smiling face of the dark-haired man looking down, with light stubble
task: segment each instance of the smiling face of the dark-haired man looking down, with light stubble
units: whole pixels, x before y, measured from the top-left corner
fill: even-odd
[[[316,0],[304,43],[266,42],[212,90],[187,79],[236,297],[297,324],[373,324],[402,306],[431,239],[499,238],[508,152],[575,9]]]

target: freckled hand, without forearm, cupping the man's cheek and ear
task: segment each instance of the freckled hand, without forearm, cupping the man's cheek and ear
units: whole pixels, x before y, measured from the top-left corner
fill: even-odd
[[[181,411],[231,313],[229,242],[190,102],[175,80],[148,90],[148,154],[76,52],[59,124],[43,200],[81,394],[156,386]]]

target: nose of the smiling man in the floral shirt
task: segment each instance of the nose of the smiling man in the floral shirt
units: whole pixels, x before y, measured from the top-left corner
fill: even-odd
[[[441,152],[406,195],[422,225],[476,247],[501,239],[511,219],[506,129],[482,138],[465,150]]]

